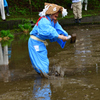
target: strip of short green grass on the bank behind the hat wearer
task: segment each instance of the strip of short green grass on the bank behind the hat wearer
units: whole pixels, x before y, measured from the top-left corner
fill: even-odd
[[[14,14],[14,13],[11,13],[10,12],[10,15],[9,17],[6,17],[6,20],[27,20],[27,21],[30,21],[30,20],[33,20],[35,23],[37,21],[37,19],[39,18],[38,16],[38,12],[32,12],[32,14],[28,13],[28,14],[23,14],[23,13],[17,13]],[[87,17],[87,16],[99,16],[100,15],[100,9],[96,9],[96,10],[90,10],[88,9],[87,11],[85,10],[82,10],[82,16],[83,17]],[[59,17],[59,19],[61,19],[61,15]],[[65,18],[74,18],[74,15],[73,15],[73,11],[72,9],[68,9],[68,15],[65,17]],[[0,19],[0,21],[2,21]]]

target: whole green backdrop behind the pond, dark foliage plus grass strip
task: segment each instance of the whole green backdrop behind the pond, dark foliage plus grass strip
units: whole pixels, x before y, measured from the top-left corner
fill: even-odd
[[[38,13],[43,10],[44,3],[55,3],[67,9],[68,15],[64,18],[74,18],[71,9],[72,0],[7,0],[11,16],[6,16],[6,20],[33,20],[37,21]],[[29,3],[31,2],[31,4]],[[100,0],[88,0],[88,10],[82,10],[82,17],[100,15]],[[60,16],[59,19],[62,17]],[[59,20],[58,19],[58,20]],[[0,19],[2,21],[2,19]]]

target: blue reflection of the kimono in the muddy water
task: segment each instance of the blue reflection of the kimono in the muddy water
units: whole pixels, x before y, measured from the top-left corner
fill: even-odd
[[[51,100],[50,83],[48,80],[36,79],[33,86],[33,100]],[[44,84],[43,84],[44,83]]]

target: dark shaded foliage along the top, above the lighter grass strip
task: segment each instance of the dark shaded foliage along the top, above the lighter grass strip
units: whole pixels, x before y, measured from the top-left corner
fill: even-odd
[[[32,9],[30,9],[29,1],[31,1]],[[70,10],[72,0],[7,0],[7,2],[11,14],[27,15],[30,14],[30,10],[32,12],[41,11],[44,8],[44,2],[55,3]],[[90,10],[100,9],[100,0],[88,0],[88,2],[88,8]]]

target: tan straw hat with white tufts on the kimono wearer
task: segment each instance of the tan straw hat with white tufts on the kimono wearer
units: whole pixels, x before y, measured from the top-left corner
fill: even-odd
[[[65,17],[67,15],[67,10],[64,9],[64,7],[53,4],[53,3],[45,3],[45,7],[43,11],[39,13],[39,16],[45,16],[45,15],[52,15],[60,11],[62,13],[62,17]]]

